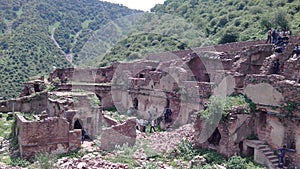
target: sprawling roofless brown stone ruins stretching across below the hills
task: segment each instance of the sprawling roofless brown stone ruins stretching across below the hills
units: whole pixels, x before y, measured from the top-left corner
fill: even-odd
[[[68,124],[61,138],[69,145],[57,144],[52,152],[78,145],[80,138],[75,123],[86,128],[91,138],[102,136],[103,149],[126,142],[133,145],[136,133],[131,129],[135,128],[135,119],[117,124],[101,113],[102,109],[116,107],[118,112],[128,116],[156,120],[161,128],[194,122],[195,146],[214,149],[227,157],[252,155],[257,162],[271,168],[278,163],[272,151],[287,144],[297,150],[297,153],[288,154],[291,163],[300,166],[300,133],[297,131],[300,124],[300,57],[291,56],[299,41],[299,36],[291,37],[283,53],[274,53],[273,46],[263,41],[251,41],[150,54],[141,61],[116,62],[99,69],[56,69],[48,79],[56,82],[55,92],[38,92],[37,85],[33,86],[33,92],[32,87],[24,89],[23,97],[1,101],[0,111],[46,110],[47,118],[53,123],[61,124],[62,128]],[[276,59],[280,62],[279,73],[272,74]],[[84,91],[86,94],[82,98],[95,95],[100,102],[98,108],[90,108],[92,106],[85,105],[88,102],[83,100],[76,106],[69,101],[71,98],[64,101],[51,98],[51,95],[67,95],[72,91]],[[39,94],[33,97],[35,92]],[[211,136],[203,140],[200,136],[206,128],[197,114],[205,108],[210,96],[231,94],[251,99],[256,104],[256,116],[232,110],[231,117],[217,123]],[[80,105],[85,106],[81,108]],[[49,123],[47,118],[41,123]],[[20,127],[29,125],[20,117],[18,119]],[[250,136],[256,136],[257,140],[248,139]],[[19,140],[22,139],[19,135]],[[36,139],[32,141],[35,144],[27,140],[23,141],[23,146],[34,147],[43,142],[35,137],[32,139]],[[20,149],[26,148],[20,146]],[[45,149],[52,147],[45,146]]]

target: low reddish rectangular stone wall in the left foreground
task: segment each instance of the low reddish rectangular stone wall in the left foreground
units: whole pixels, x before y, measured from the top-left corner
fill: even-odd
[[[40,152],[66,153],[81,145],[81,130],[69,131],[66,119],[50,117],[42,121],[28,121],[20,115],[16,115],[16,118],[18,142],[23,158],[33,157]]]

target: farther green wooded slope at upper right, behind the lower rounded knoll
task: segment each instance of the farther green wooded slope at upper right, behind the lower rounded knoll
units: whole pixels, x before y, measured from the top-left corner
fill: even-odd
[[[299,33],[299,0],[167,0],[152,12],[168,13],[196,24],[216,43],[266,38],[268,27]]]

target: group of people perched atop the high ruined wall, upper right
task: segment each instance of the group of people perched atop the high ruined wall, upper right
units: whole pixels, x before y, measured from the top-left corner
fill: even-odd
[[[277,31],[276,29],[269,29],[267,32],[266,43],[272,43],[274,45],[275,52],[282,53],[284,48],[289,43],[289,37],[291,32],[288,30]]]

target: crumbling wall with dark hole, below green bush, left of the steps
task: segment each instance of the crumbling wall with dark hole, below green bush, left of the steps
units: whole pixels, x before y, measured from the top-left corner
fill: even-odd
[[[240,154],[242,151],[240,144],[243,144],[243,141],[254,132],[253,119],[247,114],[235,114],[217,124],[208,125],[208,123],[197,119],[194,145],[214,149],[226,157]],[[219,136],[216,136],[217,133]]]

